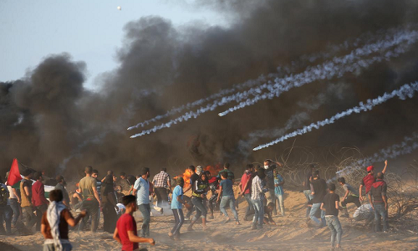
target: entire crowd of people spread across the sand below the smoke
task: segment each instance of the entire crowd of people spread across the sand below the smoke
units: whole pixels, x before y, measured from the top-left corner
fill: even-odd
[[[10,235],[13,228],[20,234],[33,234],[35,228],[45,237],[44,250],[71,250],[69,228],[85,231],[89,226],[90,231],[95,232],[102,213],[103,231],[113,233],[113,238],[122,244],[122,250],[136,250],[138,243],[155,244],[154,239],[150,238],[152,208],[160,213],[164,209],[172,210],[175,223],[168,236],[178,241],[181,239],[181,227],[193,214],[187,231],[194,231],[194,225],[200,219],[203,230],[208,230],[208,213],[209,218],[213,219],[214,211],[218,208],[224,217],[224,224],[232,220],[229,208],[234,223],[241,225],[237,213],[237,200],[241,197],[247,201],[242,220],[252,221],[251,230],[262,229],[265,224],[276,224],[272,215],[277,215],[278,210],[285,217],[285,180],[280,174],[280,166],[280,162],[271,159],[266,159],[263,166],[247,164],[237,192],[234,192],[235,175],[229,163],[225,163],[224,169],[216,176],[201,166],[195,168],[191,165],[187,168],[191,174],[188,180],[178,177],[174,181],[165,168],[150,181],[149,168],[143,168],[136,177],[122,172],[117,178],[112,171],[108,171],[105,177],[99,179],[99,172],[87,166],[85,177],[76,184],[75,191],[70,195],[64,177],[58,175],[54,189],[49,191],[49,200],[46,199],[44,174],[26,169],[21,173],[23,179],[18,187],[3,183],[0,179],[0,234]],[[375,231],[380,231],[381,220],[383,232],[387,231],[387,185],[383,181],[386,169],[387,161],[377,175],[373,166],[367,167],[368,174],[362,179],[358,190],[347,184],[344,177],[339,177],[337,181],[344,190],[340,200],[336,185],[327,184],[320,177],[319,170],[311,166],[303,182],[303,193],[307,199],[306,218],[316,227],[329,227],[333,249],[341,247],[343,230],[338,216],[341,210],[342,217],[349,217],[349,203],[358,208],[357,215],[358,210],[368,205],[374,212]],[[171,182],[175,182],[174,188]],[[363,187],[368,203],[362,196]],[[190,197],[185,195],[188,191],[191,191]],[[153,195],[157,198],[156,205],[153,205]],[[186,217],[184,208],[188,210]],[[74,218],[71,210],[78,211],[79,215]],[[137,210],[143,217],[139,231],[133,217]],[[18,221],[19,218],[22,220]]]

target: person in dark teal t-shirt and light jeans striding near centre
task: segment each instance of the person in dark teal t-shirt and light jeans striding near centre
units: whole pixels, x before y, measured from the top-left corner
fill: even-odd
[[[241,225],[240,220],[238,219],[237,210],[235,209],[235,197],[234,190],[232,189],[232,180],[228,179],[227,172],[223,172],[221,174],[221,178],[222,181],[219,184],[219,194],[217,201],[219,201],[222,194],[221,205],[219,206],[219,209],[227,217],[224,223],[228,223],[231,220],[226,210],[227,206],[229,205],[229,208],[231,208],[231,211],[234,214],[235,224]]]

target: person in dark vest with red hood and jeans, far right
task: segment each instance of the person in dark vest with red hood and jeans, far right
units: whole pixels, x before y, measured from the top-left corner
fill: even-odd
[[[387,184],[383,181],[384,174],[378,173],[376,182],[372,184],[370,193],[368,194],[369,201],[375,210],[375,231],[380,232],[380,218],[383,220],[383,233],[387,232]],[[372,200],[373,199],[373,200]]]

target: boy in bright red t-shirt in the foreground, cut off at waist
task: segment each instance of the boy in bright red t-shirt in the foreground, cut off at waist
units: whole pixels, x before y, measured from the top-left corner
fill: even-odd
[[[138,250],[139,242],[148,242],[154,246],[155,241],[153,238],[138,237],[136,221],[135,218],[133,218],[133,213],[138,210],[135,196],[124,196],[122,198],[122,204],[125,205],[126,211],[120,216],[119,220],[117,220],[115,233],[113,233],[113,238],[122,244],[122,251]]]

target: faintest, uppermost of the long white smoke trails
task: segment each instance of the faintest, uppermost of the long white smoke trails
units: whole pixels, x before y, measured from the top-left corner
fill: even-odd
[[[396,32],[396,29],[390,29],[390,30],[386,31],[386,34],[387,33],[395,33],[395,32]],[[291,64],[289,66],[278,67],[278,72],[284,71],[287,74],[290,74],[291,72],[296,71],[296,69],[301,67],[301,64],[304,64],[305,62],[313,63],[313,62],[315,62],[319,59],[329,59],[331,56],[335,55],[337,52],[339,52],[343,49],[349,49],[353,46],[358,47],[360,44],[363,44],[363,43],[364,44],[370,44],[373,41],[377,41],[379,39],[384,39],[384,37],[382,37],[382,35],[379,34],[379,33],[382,33],[382,31],[377,32],[377,34],[365,33],[365,34],[359,36],[358,38],[356,38],[352,42],[344,41],[344,43],[342,43],[342,44],[339,44],[339,45],[336,45],[336,46],[330,46],[330,48],[327,51],[323,51],[323,52],[319,52],[319,53],[315,53],[315,54],[311,54],[311,55],[303,55],[303,56],[300,57],[300,60],[299,60],[301,62],[293,61],[293,62],[291,62]],[[233,92],[243,90],[243,89],[246,89],[246,88],[251,88],[255,85],[260,85],[261,83],[266,82],[267,79],[278,78],[278,77],[280,77],[280,75],[282,75],[282,74],[281,73],[271,73],[271,74],[268,74],[267,76],[261,75],[257,79],[251,79],[251,80],[248,80],[246,82],[233,85],[232,88],[220,90],[219,92],[217,92],[215,94],[212,94],[209,97],[201,98],[201,99],[196,100],[194,102],[189,102],[186,105],[181,105],[179,107],[172,108],[171,110],[169,110],[167,113],[165,113],[163,115],[157,115],[154,118],[151,118],[149,120],[145,120],[143,122],[140,122],[136,125],[130,126],[130,127],[127,128],[127,130],[133,130],[135,128],[144,127],[145,125],[150,125],[151,123],[157,122],[158,120],[161,120],[163,118],[167,118],[167,117],[169,117],[171,115],[174,115],[176,113],[181,113],[183,110],[190,110],[191,108],[194,108],[195,106],[202,105],[206,102],[218,99],[218,98],[223,97],[225,95],[229,95]]]

